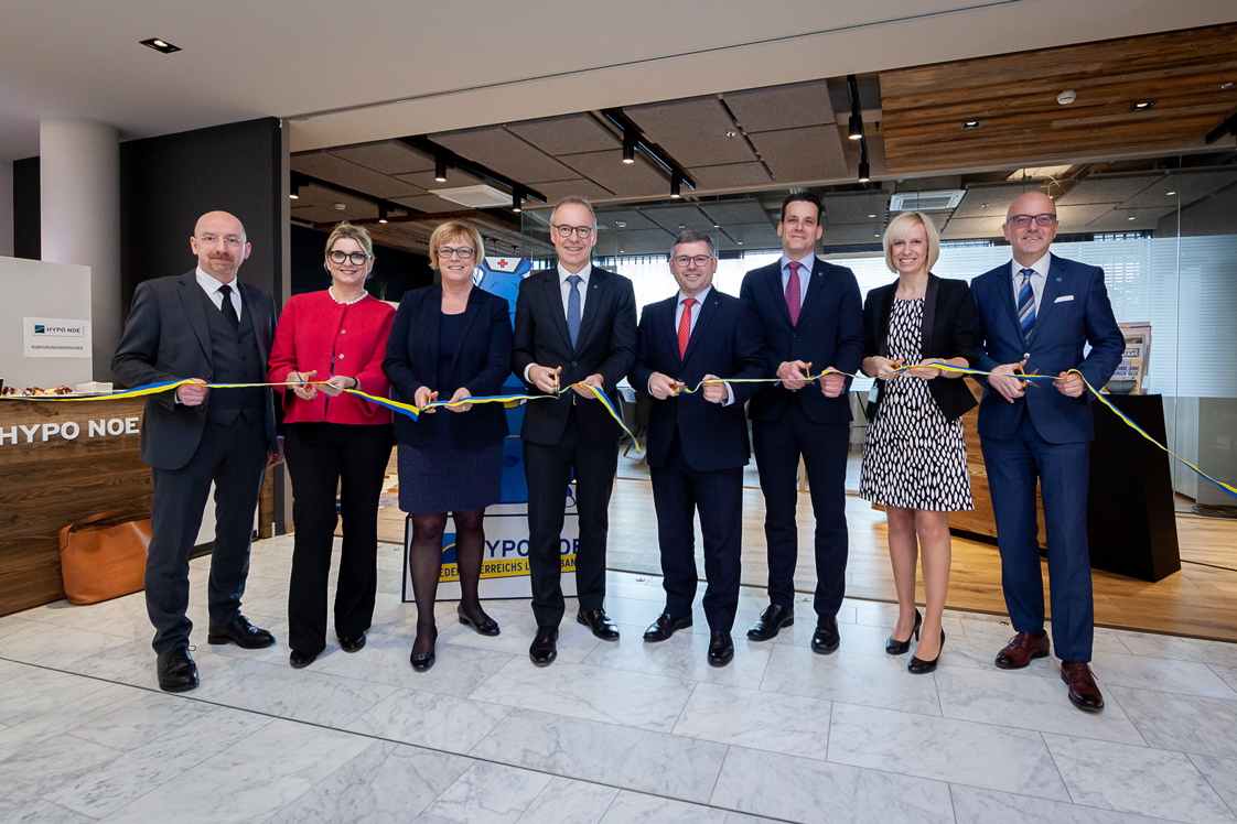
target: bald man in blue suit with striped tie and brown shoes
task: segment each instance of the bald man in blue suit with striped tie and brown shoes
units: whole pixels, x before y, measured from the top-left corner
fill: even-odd
[[[1098,710],[1103,696],[1089,662],[1094,635],[1086,493],[1091,398],[1082,378],[1102,387],[1124,338],[1103,287],[1103,269],[1051,254],[1056,206],[1030,191],[1009,206],[1004,236],[1013,261],[971,282],[978,306],[978,367],[992,372],[980,403],[980,446],[988,471],[1001,581],[1017,635],[996,665],[1021,670],[1049,652],[1039,570],[1035,479],[1044,499],[1053,642],[1075,707]],[[1084,358],[1082,348],[1091,345]],[[1068,374],[1077,369],[1079,374]],[[1054,374],[1048,382],[1014,377]]]

